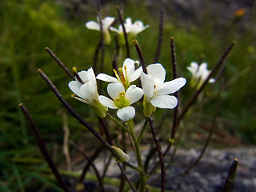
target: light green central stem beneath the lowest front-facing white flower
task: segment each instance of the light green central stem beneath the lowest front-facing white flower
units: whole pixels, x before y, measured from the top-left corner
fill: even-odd
[[[130,129],[130,137],[133,139],[134,146],[135,146],[135,152],[136,152],[136,158],[138,162],[138,173],[139,173],[139,179],[140,179],[140,192],[145,192],[146,191],[146,177],[143,169],[143,164],[142,164],[142,155],[141,151],[138,145],[138,140],[136,138],[136,135],[134,133],[134,122],[132,119],[130,119],[127,122],[127,125]]]

